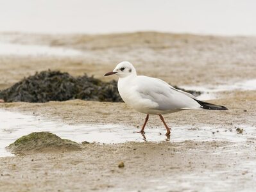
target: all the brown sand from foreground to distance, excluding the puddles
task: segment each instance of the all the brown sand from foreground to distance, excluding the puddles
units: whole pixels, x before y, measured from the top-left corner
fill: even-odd
[[[13,36],[15,42],[22,39]],[[64,46],[84,51],[85,56],[1,56],[0,88],[47,68],[75,76],[87,72],[108,81],[110,78],[103,78],[103,74],[123,60],[133,62],[138,74],[159,77],[177,86],[227,84],[256,77],[255,38],[134,33],[35,35],[28,41],[28,36],[24,36],[24,44]],[[228,111],[180,111],[165,118],[171,127],[209,125],[235,131],[248,125],[256,129],[255,98],[255,90],[221,92],[211,102],[226,106]],[[134,127],[131,131],[139,130],[145,118],[124,103],[83,100],[0,103],[0,108],[66,124],[130,125]],[[162,127],[165,131],[157,116],[149,116],[148,127]],[[248,129],[244,129],[244,134]],[[218,132],[214,134],[218,137]],[[255,137],[240,143],[227,140],[175,143],[164,141],[164,134],[162,137],[160,143],[91,143],[83,145],[79,152],[0,157],[0,191],[52,191],[53,188],[55,191],[253,191],[256,188]],[[118,168],[120,161],[124,162],[124,168]]]

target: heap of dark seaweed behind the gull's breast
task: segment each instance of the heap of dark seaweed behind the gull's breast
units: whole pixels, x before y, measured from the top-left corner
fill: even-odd
[[[42,71],[0,91],[5,102],[47,102],[71,99],[122,102],[117,82],[94,77],[73,77],[66,72]]]

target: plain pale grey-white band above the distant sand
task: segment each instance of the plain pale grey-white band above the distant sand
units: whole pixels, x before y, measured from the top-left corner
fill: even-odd
[[[0,1],[0,31],[256,35],[253,0]]]

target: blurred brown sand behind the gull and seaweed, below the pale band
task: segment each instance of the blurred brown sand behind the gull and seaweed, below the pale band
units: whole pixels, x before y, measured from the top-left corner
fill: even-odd
[[[1,36],[4,38],[3,34]],[[74,76],[86,72],[103,79],[106,71],[126,60],[135,65],[138,74],[159,77],[176,85],[219,84],[255,78],[255,37],[153,32],[98,36],[7,33],[5,36],[14,43],[62,46],[83,51],[83,55],[67,58],[1,56],[0,88],[48,68]]]

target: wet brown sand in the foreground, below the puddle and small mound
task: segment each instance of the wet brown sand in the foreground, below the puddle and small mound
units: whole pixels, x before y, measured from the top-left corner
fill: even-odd
[[[249,144],[88,144],[80,152],[2,157],[1,191],[253,191]]]

